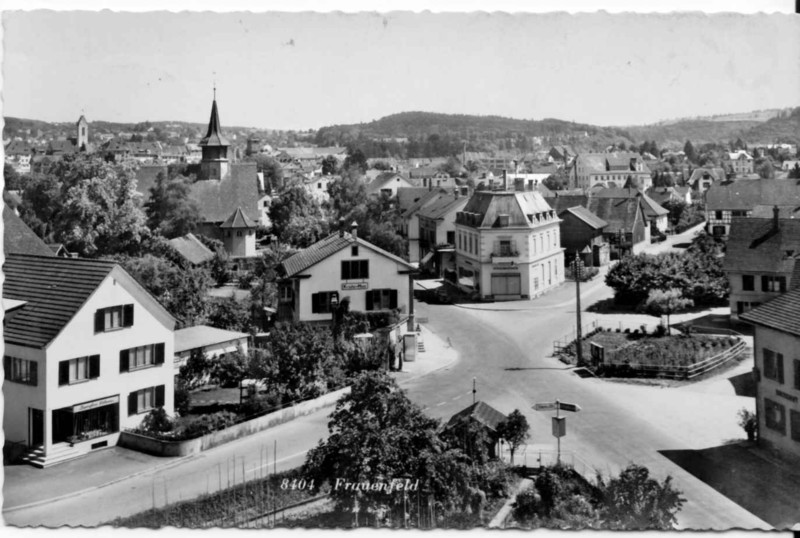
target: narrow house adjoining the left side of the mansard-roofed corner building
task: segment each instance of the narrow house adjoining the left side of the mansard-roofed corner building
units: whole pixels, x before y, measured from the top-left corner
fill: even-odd
[[[455,276],[456,214],[464,209],[468,200],[458,191],[443,194],[417,213],[420,266],[430,263],[433,273],[440,277],[445,271]]]

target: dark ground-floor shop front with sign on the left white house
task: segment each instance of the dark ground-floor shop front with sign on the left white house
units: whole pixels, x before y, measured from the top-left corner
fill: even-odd
[[[53,410],[53,443],[88,441],[119,431],[119,396]]]

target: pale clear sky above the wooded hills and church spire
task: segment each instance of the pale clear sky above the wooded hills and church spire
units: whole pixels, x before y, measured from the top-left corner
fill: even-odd
[[[162,2],[161,4],[167,5]],[[6,11],[3,114],[309,129],[411,110],[641,125],[800,106],[792,14]]]

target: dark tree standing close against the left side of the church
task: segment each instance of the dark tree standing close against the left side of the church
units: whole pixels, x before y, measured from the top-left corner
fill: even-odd
[[[193,232],[200,221],[200,208],[189,193],[187,178],[177,176],[170,180],[159,173],[144,206],[150,229],[167,239]]]

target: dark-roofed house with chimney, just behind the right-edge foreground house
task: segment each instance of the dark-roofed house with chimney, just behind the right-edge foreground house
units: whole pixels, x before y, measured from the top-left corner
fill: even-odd
[[[730,282],[731,317],[785,293],[800,258],[800,220],[735,218],[723,269]]]

